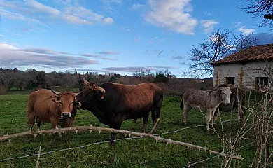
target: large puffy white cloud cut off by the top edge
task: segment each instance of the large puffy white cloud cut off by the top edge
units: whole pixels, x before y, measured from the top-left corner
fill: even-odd
[[[197,20],[190,15],[190,0],[149,0],[148,4],[151,10],[145,15],[147,22],[177,33],[194,34]]]

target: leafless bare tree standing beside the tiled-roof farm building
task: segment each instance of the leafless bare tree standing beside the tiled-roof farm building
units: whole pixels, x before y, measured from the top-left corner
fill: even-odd
[[[252,45],[257,45],[258,38],[251,34],[235,35],[228,30],[218,30],[211,34],[208,40],[199,43],[199,46],[193,46],[188,52],[190,55],[190,69],[184,72],[184,75],[191,74],[195,77],[212,75],[214,68],[211,63],[222,59],[234,52],[243,50]]]

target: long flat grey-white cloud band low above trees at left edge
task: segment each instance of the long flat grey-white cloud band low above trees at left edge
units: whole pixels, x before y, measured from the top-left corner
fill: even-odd
[[[44,48],[20,49],[8,43],[0,43],[0,50],[0,65],[3,67],[35,66],[71,69],[71,67],[98,64],[93,59],[76,57],[66,52],[56,52]]]

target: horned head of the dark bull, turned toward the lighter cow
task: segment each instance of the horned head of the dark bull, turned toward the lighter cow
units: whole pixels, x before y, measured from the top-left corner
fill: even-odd
[[[88,83],[85,78],[83,78],[83,86],[82,92],[78,94],[78,101],[80,101],[84,106],[90,104],[91,102],[97,102],[101,99],[104,99],[105,90],[102,87],[99,87],[96,83]]]

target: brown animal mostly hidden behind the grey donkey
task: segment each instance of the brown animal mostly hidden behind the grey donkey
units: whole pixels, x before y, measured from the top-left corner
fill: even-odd
[[[237,109],[240,125],[244,126],[246,123],[246,112],[244,111],[244,106],[246,104],[246,92],[237,87],[233,88],[231,92],[232,94],[230,95],[230,106],[220,104],[218,109],[216,109],[214,119],[219,116],[219,111],[232,111],[232,109]]]

